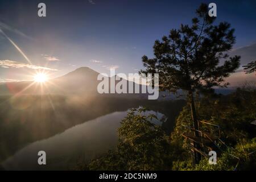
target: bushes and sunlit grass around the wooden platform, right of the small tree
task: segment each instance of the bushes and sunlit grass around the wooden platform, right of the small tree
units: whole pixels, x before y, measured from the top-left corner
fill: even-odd
[[[176,159],[172,169],[179,170],[251,170],[256,167],[256,127],[250,122],[256,119],[256,90],[242,88],[228,96],[199,98],[196,102],[200,120],[221,127],[221,139],[228,146],[221,147],[221,156],[217,164],[210,165],[208,159],[203,159],[195,167],[191,167],[189,155],[187,159]],[[191,123],[191,111],[185,106],[176,120],[172,140],[180,140],[184,149],[189,150],[181,134],[186,129],[181,125]],[[201,127],[202,129],[202,127]],[[239,158],[239,163],[238,159]],[[238,165],[237,165],[238,164]]]

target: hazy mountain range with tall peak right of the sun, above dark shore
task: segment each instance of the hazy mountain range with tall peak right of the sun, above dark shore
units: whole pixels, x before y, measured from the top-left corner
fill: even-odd
[[[3,94],[78,94],[78,95],[88,95],[95,96],[98,95],[97,86],[101,80],[97,80],[100,73],[90,69],[89,67],[77,68],[75,71],[69,72],[64,76],[53,78],[47,83],[37,83],[34,81],[20,81],[20,82],[6,82],[0,85],[0,93]],[[117,78],[117,76],[115,76]],[[110,88],[110,77],[105,77],[109,79]],[[120,80],[122,80],[121,78]],[[119,80],[115,80],[115,85]],[[136,83],[131,83],[127,81],[127,92],[129,89],[129,83],[137,85]],[[140,89],[141,89],[141,85]],[[110,90],[110,89],[109,89]],[[123,97],[126,94],[103,94],[115,97]],[[126,95],[127,96],[127,95]],[[129,94],[129,98],[140,97],[146,98],[147,94]]]

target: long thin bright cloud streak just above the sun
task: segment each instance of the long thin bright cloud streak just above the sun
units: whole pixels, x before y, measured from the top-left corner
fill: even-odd
[[[47,67],[40,67],[37,65],[25,64],[20,63],[17,61],[10,61],[10,60],[0,60],[0,67],[2,68],[29,68],[29,69],[44,69],[49,71],[58,71],[57,69],[47,68]]]

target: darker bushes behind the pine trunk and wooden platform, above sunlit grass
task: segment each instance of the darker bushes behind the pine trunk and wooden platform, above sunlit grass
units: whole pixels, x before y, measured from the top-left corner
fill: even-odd
[[[204,96],[197,100],[196,109],[200,121],[221,127],[221,136],[226,144],[234,146],[238,138],[256,137],[256,129],[250,124],[256,119],[256,90],[242,88],[228,96]],[[186,131],[181,125],[192,127],[188,105],[177,117],[172,136],[180,137]]]

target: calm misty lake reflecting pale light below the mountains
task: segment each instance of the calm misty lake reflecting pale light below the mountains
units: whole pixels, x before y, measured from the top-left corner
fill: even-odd
[[[166,121],[164,114],[148,111],[160,120]],[[127,111],[110,114],[73,126],[63,133],[38,140],[15,152],[3,160],[1,166],[7,170],[69,170],[74,169],[78,160],[90,159],[112,149],[118,142],[117,129]],[[157,125],[162,122],[152,120]],[[38,152],[46,152],[46,165],[38,164]]]

